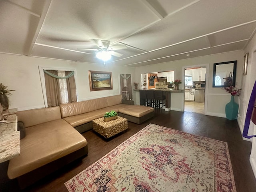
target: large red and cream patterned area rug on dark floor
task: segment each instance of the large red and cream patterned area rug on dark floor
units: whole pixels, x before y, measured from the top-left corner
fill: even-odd
[[[226,142],[154,124],[65,185],[70,192],[236,192]]]

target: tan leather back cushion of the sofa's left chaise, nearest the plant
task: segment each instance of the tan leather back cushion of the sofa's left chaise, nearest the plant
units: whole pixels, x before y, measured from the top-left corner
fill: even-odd
[[[25,128],[48,121],[61,119],[59,106],[18,111],[17,116],[18,121],[22,121]]]

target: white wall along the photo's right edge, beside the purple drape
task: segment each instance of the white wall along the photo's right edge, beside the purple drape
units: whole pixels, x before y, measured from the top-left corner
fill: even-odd
[[[244,122],[246,111],[248,107],[248,102],[250,99],[250,95],[252,92],[252,88],[254,82],[256,80],[256,35],[252,38],[248,46],[244,49],[244,54],[249,53],[248,57],[248,68],[247,75],[242,76],[242,92],[240,95],[240,106],[239,106],[239,114],[240,118],[238,118],[238,124],[241,132],[244,129]],[[256,135],[256,125],[250,125],[249,135]],[[252,139],[252,151],[250,155],[250,162],[252,165],[252,170],[254,171],[254,176],[256,177],[256,138]]]

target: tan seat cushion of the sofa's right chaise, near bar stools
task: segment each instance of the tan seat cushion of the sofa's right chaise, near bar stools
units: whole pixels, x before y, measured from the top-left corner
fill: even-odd
[[[141,105],[118,104],[116,107],[118,107],[118,112],[134,117],[142,117],[146,114],[154,112],[154,108]]]

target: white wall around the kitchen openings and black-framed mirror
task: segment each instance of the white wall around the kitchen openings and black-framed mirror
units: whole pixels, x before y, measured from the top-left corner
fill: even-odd
[[[209,56],[202,56],[196,58],[189,58],[185,60],[178,60],[173,62],[159,63],[149,66],[142,66],[136,68],[136,79],[134,81],[140,82],[141,73],[149,72],[162,72],[174,70],[174,78],[182,80],[182,88],[184,88],[184,68],[193,66],[208,66],[208,71],[206,76],[208,76],[208,82],[206,81],[206,114],[212,116],[226,117],[225,115],[225,105],[230,102],[230,94],[226,93],[225,90],[221,88],[212,87],[213,78],[213,64],[219,62],[227,62],[237,60],[236,67],[236,87],[241,87],[242,79],[242,66],[243,66],[243,56],[242,51],[227,52],[222,54],[214,54]],[[139,100],[136,100],[138,103]],[[236,98],[238,102],[238,98]],[[171,104],[172,105],[172,104]]]

